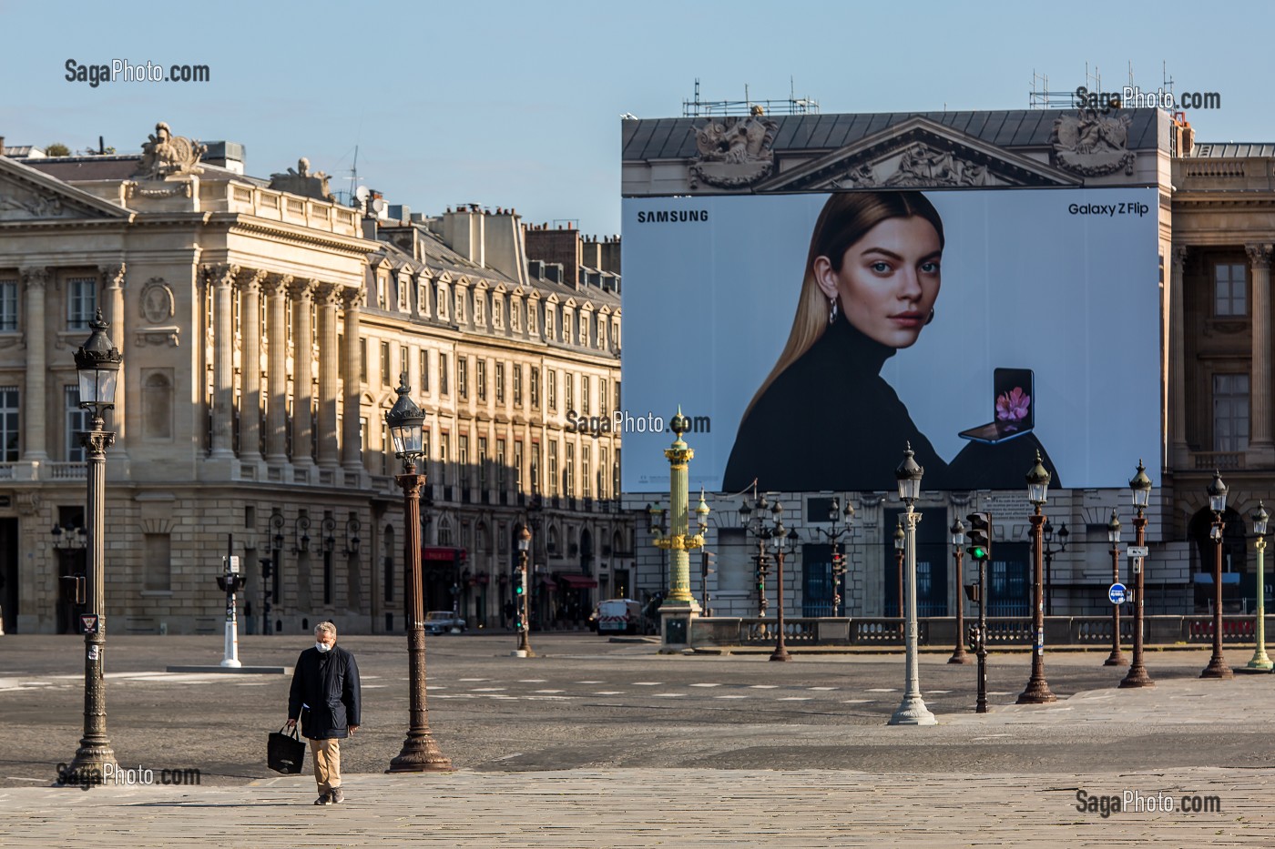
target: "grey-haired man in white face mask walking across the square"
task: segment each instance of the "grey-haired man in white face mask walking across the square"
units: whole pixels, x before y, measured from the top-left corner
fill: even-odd
[[[300,718],[301,736],[310,738],[319,783],[315,804],[346,801],[340,789],[340,741],[358,730],[360,706],[354,655],[337,646],[335,625],[320,622],[314,648],[297,658],[288,693],[288,728]]]

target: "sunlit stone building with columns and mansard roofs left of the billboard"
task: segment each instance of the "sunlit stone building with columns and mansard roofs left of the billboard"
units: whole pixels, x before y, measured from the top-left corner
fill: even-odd
[[[567,424],[571,403],[620,391],[620,279],[584,261],[598,246],[572,229],[580,261],[546,270],[513,212],[390,221],[334,203],[305,161],[265,180],[207,152],[161,124],[142,156],[0,156],[5,628],[78,627],[62,580],[84,570],[71,354],[97,308],[124,356],[107,416],[112,632],[219,631],[227,552],[247,572],[246,630],[400,630],[384,427],[400,374],[430,431],[430,608],[499,626],[523,521],[544,625],[622,588],[618,437]]]

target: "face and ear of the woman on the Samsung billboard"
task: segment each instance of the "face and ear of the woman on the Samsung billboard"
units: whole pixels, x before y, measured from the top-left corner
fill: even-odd
[[[840,270],[815,260],[824,294],[863,335],[891,348],[917,342],[938,297],[942,243],[924,218],[887,218],[847,249]]]

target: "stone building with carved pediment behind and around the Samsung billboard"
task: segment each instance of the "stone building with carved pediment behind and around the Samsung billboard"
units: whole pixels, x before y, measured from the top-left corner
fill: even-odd
[[[737,139],[727,148],[714,134]],[[723,136],[725,138],[725,136]],[[1200,144],[1179,115],[1158,110],[1028,110],[877,115],[752,115],[731,119],[634,120],[623,124],[625,195],[831,191],[872,186],[961,189],[988,186],[1154,186],[1159,195],[1159,315],[1130,316],[1159,325],[1162,456],[1149,511],[1148,612],[1207,609],[1215,548],[1209,541],[1205,487],[1220,469],[1230,487],[1224,538],[1225,609],[1252,611],[1256,599],[1250,514],[1275,504],[1272,305],[1275,145]],[[1150,269],[1154,274],[1155,269]],[[632,330],[632,329],[631,329]],[[638,328],[638,333],[646,331]],[[1113,363],[1114,366],[1114,363]],[[1118,417],[1112,426],[1118,427]],[[687,436],[691,447],[694,437]],[[1131,478],[1139,458],[1130,458]],[[1024,473],[1026,469],[1024,469]],[[830,612],[830,547],[817,528],[831,496],[857,509],[849,538],[844,595],[850,616],[894,614],[892,532],[900,510],[889,493],[778,493],[784,521],[802,535],[787,561],[790,614]],[[631,506],[650,500],[643,493]],[[1029,609],[1028,512],[1024,492],[929,492],[918,510],[918,567],[940,591],[922,613],[951,614],[963,598],[947,528],[993,500],[993,555],[1005,614]],[[709,549],[715,574],[713,609],[756,616],[752,553],[756,539],[738,529],[740,497],[718,498]],[[1270,505],[1267,505],[1267,509]],[[1113,509],[1130,542],[1127,490],[1052,490],[1052,528],[1068,528],[1049,556],[1053,612],[1107,613],[1112,581],[1107,523]],[[789,519],[792,518],[792,519]],[[657,586],[663,557],[639,529],[639,584]],[[1122,560],[1122,570],[1127,563]],[[968,569],[968,563],[966,563]],[[700,577],[692,569],[699,595]],[[774,576],[766,590],[774,609]],[[1267,577],[1267,584],[1272,581]]]

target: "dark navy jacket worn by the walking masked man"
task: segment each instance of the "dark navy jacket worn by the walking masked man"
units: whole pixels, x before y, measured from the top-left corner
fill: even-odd
[[[301,705],[309,705],[302,710]],[[339,645],[329,651],[314,646],[297,658],[288,693],[288,719],[301,718],[301,736],[310,739],[348,737],[360,725],[358,664]]]

